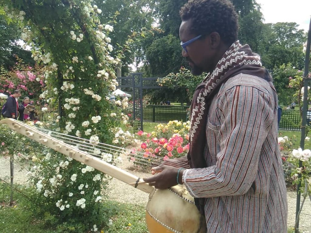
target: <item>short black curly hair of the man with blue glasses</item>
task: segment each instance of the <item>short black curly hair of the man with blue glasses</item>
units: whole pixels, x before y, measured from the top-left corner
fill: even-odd
[[[179,13],[182,21],[192,19],[193,34],[218,32],[228,45],[238,39],[238,14],[228,0],[190,0]]]

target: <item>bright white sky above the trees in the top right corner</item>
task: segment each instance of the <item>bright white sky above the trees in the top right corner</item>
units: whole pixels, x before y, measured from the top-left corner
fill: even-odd
[[[309,30],[311,0],[256,0],[261,5],[264,23],[296,22],[299,29]]]

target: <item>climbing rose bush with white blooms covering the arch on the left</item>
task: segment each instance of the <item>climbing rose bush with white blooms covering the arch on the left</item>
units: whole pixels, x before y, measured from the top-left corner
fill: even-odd
[[[101,10],[90,0],[3,0],[0,8],[8,22],[21,26],[34,60],[45,67],[40,98],[58,103],[57,130],[110,144],[115,121],[105,96],[118,85],[114,70],[120,60],[111,56],[113,27],[100,22]],[[40,203],[33,205],[36,216],[57,226],[56,232],[100,231],[109,223],[109,211],[98,204],[105,196],[103,176],[84,173],[89,168],[58,154],[50,153],[47,160],[48,152],[40,151],[31,179]]]

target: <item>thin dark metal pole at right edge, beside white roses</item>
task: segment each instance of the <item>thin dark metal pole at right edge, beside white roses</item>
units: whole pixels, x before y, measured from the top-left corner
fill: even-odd
[[[310,60],[310,46],[311,46],[311,19],[309,24],[309,32],[308,32],[308,40],[307,40],[307,50],[306,57],[304,61],[304,101],[303,101],[303,111],[302,111],[302,128],[301,128],[301,138],[300,138],[300,148],[304,149],[304,138],[306,132],[306,124],[307,124],[307,108],[308,108],[308,73],[309,73],[309,60]],[[299,167],[302,167],[302,162],[299,161]],[[298,174],[298,178],[301,178],[301,174]],[[296,219],[300,209],[300,187],[301,183],[297,185],[297,201],[296,201]],[[299,232],[299,220],[297,224],[297,228],[295,228],[295,233]]]

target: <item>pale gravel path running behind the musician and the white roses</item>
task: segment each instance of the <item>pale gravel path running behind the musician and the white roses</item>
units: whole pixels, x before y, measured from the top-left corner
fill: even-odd
[[[122,169],[138,176],[138,177],[148,177],[150,173],[144,173],[141,171],[133,170],[131,163],[128,161],[123,161]],[[21,170],[21,171],[20,171]],[[27,171],[23,169],[17,162],[14,163],[14,183],[25,184],[27,177]],[[0,158],[0,178],[10,182],[10,158]],[[148,194],[145,192],[134,189],[128,184],[125,184],[117,179],[112,179],[110,181],[109,187],[109,198],[116,200],[121,203],[132,203],[146,205],[148,202]],[[288,228],[292,228],[295,225],[295,212],[296,212],[296,192],[287,192],[288,201]],[[309,198],[306,199],[304,207],[300,214],[299,230],[300,232],[311,233],[311,203]]]

